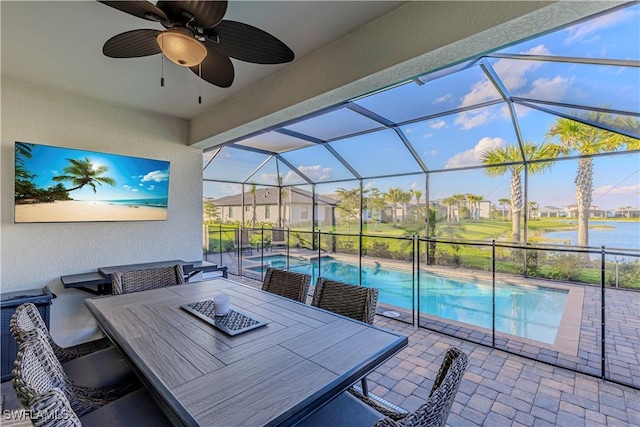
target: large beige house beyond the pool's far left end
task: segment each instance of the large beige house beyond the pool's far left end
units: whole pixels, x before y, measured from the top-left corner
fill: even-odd
[[[244,196],[244,204],[243,204]],[[259,188],[255,192],[255,218],[258,223],[278,222],[278,189]],[[325,196],[317,196],[319,225],[335,224],[335,208],[339,201]],[[249,192],[215,199],[216,207],[220,209],[220,219],[227,222],[251,222],[253,215],[253,195]],[[244,206],[244,207],[243,207]],[[295,187],[283,189],[280,210],[283,216],[283,226],[302,226],[311,224],[313,219],[313,194]]]

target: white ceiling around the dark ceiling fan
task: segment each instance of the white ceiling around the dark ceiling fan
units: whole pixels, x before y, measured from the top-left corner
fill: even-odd
[[[232,0],[225,19],[273,34],[299,61],[401,4]],[[289,65],[232,59],[235,80],[223,89],[164,61],[165,87],[161,87],[160,55],[112,59],[102,54],[102,45],[112,36],[139,28],[162,29],[158,23],[95,1],[1,1],[0,7],[3,77],[170,116],[192,118]]]

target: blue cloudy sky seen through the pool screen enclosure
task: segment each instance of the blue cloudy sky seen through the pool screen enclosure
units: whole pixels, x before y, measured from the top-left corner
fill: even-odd
[[[640,5],[617,9],[564,29],[532,38],[497,51],[504,54],[580,57],[640,61]],[[468,69],[430,80],[424,84],[408,82],[370,96],[354,100],[399,127],[407,142],[415,149],[430,174],[430,197],[438,199],[456,193],[483,195],[498,203],[509,197],[509,176],[488,177],[482,170],[450,171],[482,165],[483,153],[496,147],[517,145],[514,119],[522,139],[536,146],[553,141],[548,135],[558,116],[514,103],[513,110],[502,101],[483,66],[493,70],[507,93],[542,108],[565,114],[572,109],[549,103],[593,106],[630,112],[638,120],[640,114],[640,67],[624,64],[577,64],[533,61],[511,58],[485,58]],[[533,100],[533,101],[532,101]],[[493,105],[461,113],[447,111],[471,107],[479,103]],[[575,110],[573,110],[575,111]],[[585,110],[582,110],[585,111]],[[414,119],[432,116],[430,119]],[[407,150],[405,142],[391,129],[340,139],[343,135],[380,128],[380,124],[354,111],[340,108],[298,123],[287,125],[288,132],[303,133],[326,144],[281,152],[288,163],[276,162],[264,154],[223,148],[205,169],[205,178],[275,184],[278,172],[285,185],[304,184],[289,165],[315,182],[346,180],[353,173],[334,157],[336,153],[360,176],[365,187],[387,191],[390,187],[404,190],[425,188],[423,174],[394,178],[367,178],[395,174],[419,173],[420,164]],[[278,133],[265,134],[268,143],[278,140]],[[295,146],[300,140],[281,136],[282,147]],[[260,137],[247,141],[259,143]],[[265,139],[265,143],[266,143]],[[324,145],[324,146],[323,146]],[[577,153],[571,153],[575,155]],[[208,159],[207,159],[208,160]],[[276,164],[277,163],[277,164]],[[640,156],[638,154],[598,157],[594,159],[593,205],[602,209],[640,206]],[[529,177],[529,200],[541,206],[564,207],[575,204],[577,161],[555,162],[543,175]],[[332,193],[338,187],[357,187],[358,182],[323,184],[320,193]],[[238,186],[205,185],[205,196],[222,197],[237,194]]]

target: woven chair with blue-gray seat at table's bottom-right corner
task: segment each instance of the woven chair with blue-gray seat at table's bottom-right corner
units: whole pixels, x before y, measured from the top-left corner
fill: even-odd
[[[445,353],[427,401],[415,411],[394,411],[351,388],[297,425],[445,427],[466,369],[467,355],[450,347]]]

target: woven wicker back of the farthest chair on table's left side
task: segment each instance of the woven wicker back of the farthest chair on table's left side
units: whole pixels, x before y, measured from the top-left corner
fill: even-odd
[[[51,337],[47,325],[45,324],[38,308],[32,303],[21,304],[16,308],[9,322],[9,329],[13,338],[19,343],[29,338],[29,336],[36,333],[42,334],[49,341],[49,345],[53,349],[56,357],[60,363],[73,360],[80,356],[92,353],[94,349],[77,350],[71,348],[64,348],[59,346]]]

